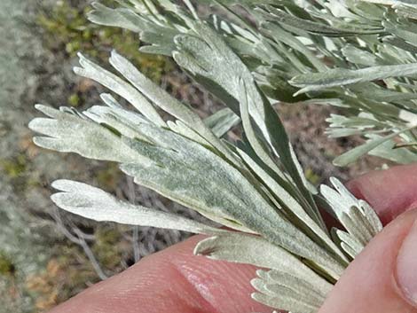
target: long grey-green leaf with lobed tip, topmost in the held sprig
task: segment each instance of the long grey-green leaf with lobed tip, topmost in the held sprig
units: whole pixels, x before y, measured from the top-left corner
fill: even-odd
[[[193,35],[178,35],[176,37],[178,51],[174,53],[174,59],[178,65],[185,67],[194,76],[204,77],[212,84],[214,83],[217,88],[223,89],[233,99],[231,102],[227,98],[223,98],[224,103],[233,112],[241,114],[241,106],[247,108],[248,115],[256,124],[254,128],[260,129],[264,141],[270,143],[271,150],[278,154],[277,156],[282,160],[287,171],[302,187],[305,184],[303,172],[292,152],[287,133],[278,114],[257,88],[248,67],[211,27],[196,22],[193,29],[199,37]],[[204,86],[207,87],[206,84]],[[247,132],[249,130],[246,129]],[[267,160],[268,157],[265,155],[267,152],[259,150],[259,153],[264,154],[262,159],[273,168],[271,160]],[[310,200],[309,192],[306,188],[302,187],[302,189],[304,189],[302,192],[304,192],[306,199]],[[312,201],[310,204],[314,206]]]

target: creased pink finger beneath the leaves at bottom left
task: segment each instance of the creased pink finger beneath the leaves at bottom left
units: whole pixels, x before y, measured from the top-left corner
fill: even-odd
[[[193,255],[195,236],[144,258],[51,313],[271,312],[250,298],[255,268]]]

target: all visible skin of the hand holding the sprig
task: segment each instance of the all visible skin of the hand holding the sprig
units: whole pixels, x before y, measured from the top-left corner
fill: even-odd
[[[319,313],[417,313],[417,165],[372,172],[348,187],[387,226],[350,264]],[[271,312],[250,298],[256,268],[193,255],[201,238],[147,256],[50,313]]]

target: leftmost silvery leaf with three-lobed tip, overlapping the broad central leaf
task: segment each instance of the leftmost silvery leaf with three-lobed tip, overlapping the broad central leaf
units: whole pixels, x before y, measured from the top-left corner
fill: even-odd
[[[62,153],[78,153],[96,160],[116,162],[143,160],[143,156],[125,145],[120,136],[94,121],[48,106],[35,107],[51,117],[35,118],[30,121],[30,129],[45,135],[34,138],[36,145]]]

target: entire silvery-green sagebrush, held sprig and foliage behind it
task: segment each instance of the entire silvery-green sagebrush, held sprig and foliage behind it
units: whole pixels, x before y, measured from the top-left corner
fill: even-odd
[[[330,136],[367,141],[334,160],[337,165],[366,153],[398,163],[417,160],[417,2],[199,1],[218,7],[209,17],[185,0],[118,3],[116,9],[93,4],[90,20],[137,32],[148,43],[140,51],[172,56],[226,107],[202,120],[116,51],[110,64],[118,74],[80,54],[75,73],[132,108],[107,93],[101,95],[105,106],[84,112],[38,105],[48,118],[30,122],[43,134],[35,144],[118,162],[137,184],[227,229],[67,180],[52,184],[59,190],[52,200],[98,221],[209,235],[195,254],[264,269],[251,282],[256,301],[293,313],[317,311],[382,223],[337,179],[319,192],[307,182],[272,104],[341,108],[344,115],[329,118]],[[241,140],[227,139],[240,121]],[[343,230],[327,230],[318,204]]]

